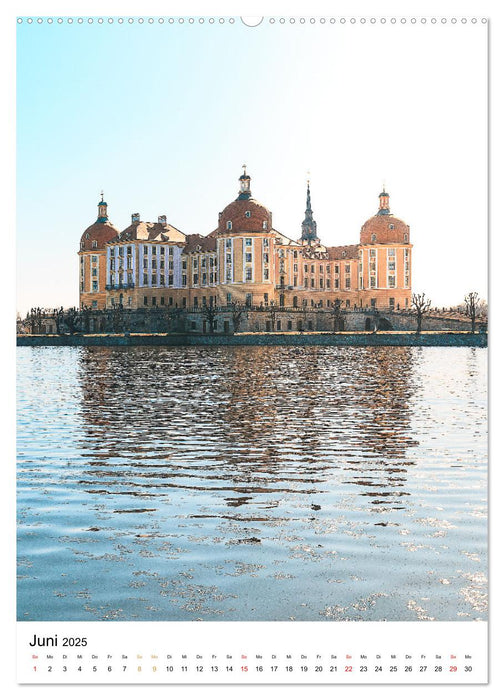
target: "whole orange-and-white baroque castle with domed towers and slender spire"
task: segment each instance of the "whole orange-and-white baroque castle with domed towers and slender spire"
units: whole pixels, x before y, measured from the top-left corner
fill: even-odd
[[[102,194],[98,218],[80,240],[80,307],[410,308],[410,229],[391,214],[385,188],[358,243],[325,246],[309,182],[301,236],[294,240],[273,228],[271,211],[253,198],[250,180],[244,166],[237,198],[206,236],[185,234],[166,216],[151,223],[139,214],[119,231]]]

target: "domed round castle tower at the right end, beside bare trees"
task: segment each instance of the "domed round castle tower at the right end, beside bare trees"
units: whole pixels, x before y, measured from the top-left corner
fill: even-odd
[[[411,305],[410,227],[390,212],[385,185],[377,213],[361,227],[359,289],[365,305],[395,310]]]

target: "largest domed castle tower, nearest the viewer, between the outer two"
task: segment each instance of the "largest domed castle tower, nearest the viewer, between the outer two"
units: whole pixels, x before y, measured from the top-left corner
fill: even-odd
[[[271,212],[252,197],[246,166],[238,197],[219,214],[219,301],[259,306],[273,298],[274,241]]]

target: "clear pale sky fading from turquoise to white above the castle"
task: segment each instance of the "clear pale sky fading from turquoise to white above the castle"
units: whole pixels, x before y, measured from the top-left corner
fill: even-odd
[[[414,291],[487,298],[486,41],[485,24],[450,20],[23,21],[18,309],[78,303],[79,239],[102,188],[120,229],[138,211],[207,234],[242,163],[292,238],[309,171],[327,245],[358,242],[385,183],[411,226]]]

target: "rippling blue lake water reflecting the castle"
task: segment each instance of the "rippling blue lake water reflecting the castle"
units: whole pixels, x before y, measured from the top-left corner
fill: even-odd
[[[487,619],[486,366],[19,348],[18,619]]]

